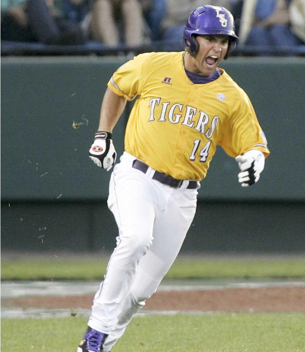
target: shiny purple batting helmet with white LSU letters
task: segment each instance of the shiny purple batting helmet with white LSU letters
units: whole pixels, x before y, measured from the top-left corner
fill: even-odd
[[[229,36],[229,45],[224,59],[230,56],[235,48],[236,39],[234,19],[229,10],[221,6],[200,6],[190,14],[184,27],[183,40],[192,54],[199,49],[199,43],[195,36],[197,34],[224,34]],[[190,45],[186,42],[188,40]]]

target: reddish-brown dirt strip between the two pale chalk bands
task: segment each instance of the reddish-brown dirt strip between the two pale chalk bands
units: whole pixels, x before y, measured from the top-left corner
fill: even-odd
[[[32,296],[3,303],[6,307],[90,309],[93,296]],[[157,291],[143,310],[305,312],[305,286]]]

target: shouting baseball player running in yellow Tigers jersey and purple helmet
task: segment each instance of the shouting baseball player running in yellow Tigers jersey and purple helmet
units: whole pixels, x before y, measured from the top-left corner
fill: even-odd
[[[267,140],[247,94],[218,68],[236,39],[228,10],[198,7],[185,25],[184,52],[138,55],[108,82],[90,149],[107,171],[116,160],[112,130],[126,101],[137,99],[109,186],[117,246],[78,352],[109,352],[157,290],[191,225],[217,145],[238,162],[242,187],[259,180]]]

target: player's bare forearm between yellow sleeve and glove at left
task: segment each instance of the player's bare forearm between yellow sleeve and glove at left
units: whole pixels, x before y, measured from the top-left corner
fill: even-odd
[[[126,99],[107,88],[102,102],[98,131],[112,132],[126,106]]]

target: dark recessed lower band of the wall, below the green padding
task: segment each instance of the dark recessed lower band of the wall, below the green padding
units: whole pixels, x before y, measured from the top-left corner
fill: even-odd
[[[1,205],[1,249],[112,251],[119,234],[106,201]],[[305,253],[304,202],[199,201],[184,253]]]

